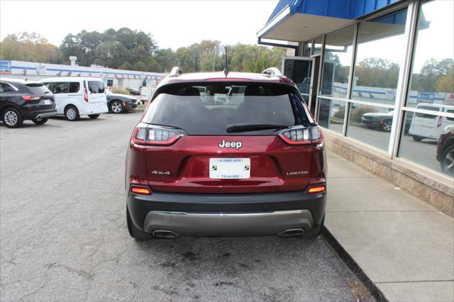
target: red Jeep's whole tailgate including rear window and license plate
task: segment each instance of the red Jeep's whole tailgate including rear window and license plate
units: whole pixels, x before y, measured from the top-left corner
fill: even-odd
[[[318,129],[293,86],[182,83],[157,91],[133,142],[144,145],[145,174],[155,191],[301,191],[314,175],[324,182],[323,164],[314,169],[321,139],[313,140],[319,132],[309,128]]]

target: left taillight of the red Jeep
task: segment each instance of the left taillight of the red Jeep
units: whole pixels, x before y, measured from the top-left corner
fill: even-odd
[[[137,145],[168,146],[179,140],[186,133],[177,128],[139,123],[133,132],[132,142]]]

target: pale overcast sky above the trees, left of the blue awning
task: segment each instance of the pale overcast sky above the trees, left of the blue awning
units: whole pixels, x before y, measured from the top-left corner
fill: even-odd
[[[0,0],[0,39],[19,31],[60,45],[68,33],[128,27],[153,34],[159,47],[203,39],[257,43],[277,0],[267,1],[5,1]]]

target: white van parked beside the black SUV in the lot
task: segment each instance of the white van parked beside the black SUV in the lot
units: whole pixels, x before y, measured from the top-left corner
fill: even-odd
[[[41,79],[55,96],[57,115],[76,121],[79,116],[97,118],[107,113],[106,91],[102,79],[96,77],[55,77]]]

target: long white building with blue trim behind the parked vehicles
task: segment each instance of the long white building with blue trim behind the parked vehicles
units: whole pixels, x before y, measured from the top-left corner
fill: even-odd
[[[103,79],[104,85],[118,89],[140,86],[155,87],[160,79],[166,76],[166,74],[158,72],[138,72],[97,65],[82,67],[77,65],[77,57],[70,57],[70,60],[71,65],[0,60],[0,76],[31,81],[38,81],[46,77],[99,77]]]

